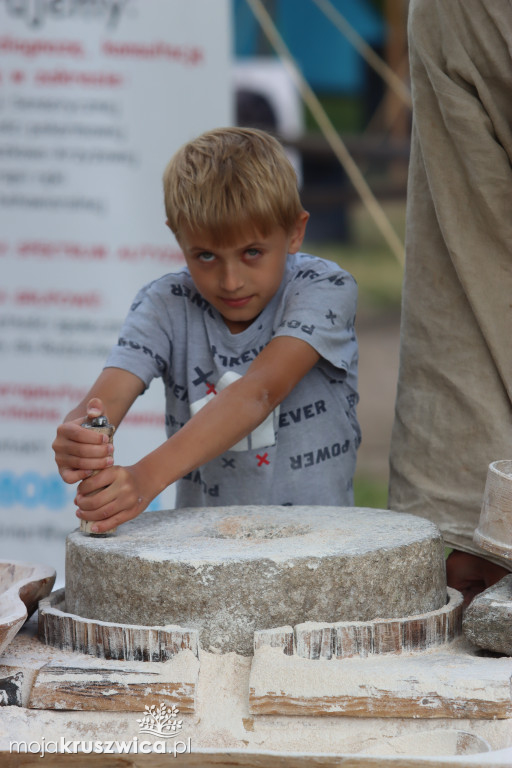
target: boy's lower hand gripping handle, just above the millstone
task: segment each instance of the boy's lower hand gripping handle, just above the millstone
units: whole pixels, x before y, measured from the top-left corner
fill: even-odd
[[[136,466],[109,467],[80,483],[76,516],[97,521],[93,533],[104,533],[137,517],[153,498],[142,487]]]

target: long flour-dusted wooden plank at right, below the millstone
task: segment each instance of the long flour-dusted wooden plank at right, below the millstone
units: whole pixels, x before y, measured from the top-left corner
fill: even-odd
[[[512,659],[439,650],[336,660],[255,653],[249,708],[255,715],[506,719]]]

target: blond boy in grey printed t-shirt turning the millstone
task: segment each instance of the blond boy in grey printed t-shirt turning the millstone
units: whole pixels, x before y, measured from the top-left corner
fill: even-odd
[[[281,145],[210,131],[171,159],[164,192],[187,268],[139,292],[57,431],[61,476],[81,481],[77,516],[103,533],[175,481],[177,507],[352,504],[357,291],[335,264],[298,253],[309,214]],[[80,423],[103,413],[118,425],[157,376],[168,439],[113,466],[106,438]]]

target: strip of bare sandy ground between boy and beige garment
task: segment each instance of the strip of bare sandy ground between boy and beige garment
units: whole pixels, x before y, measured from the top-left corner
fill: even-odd
[[[363,442],[358,472],[387,482],[388,456],[398,377],[400,318],[366,318],[358,322],[359,422]]]

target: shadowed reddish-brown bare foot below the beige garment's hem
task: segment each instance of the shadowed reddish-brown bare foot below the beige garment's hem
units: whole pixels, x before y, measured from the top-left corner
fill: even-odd
[[[506,576],[510,571],[478,555],[470,555],[454,549],[446,560],[446,581],[449,587],[458,589],[469,605],[475,595],[483,592]]]

